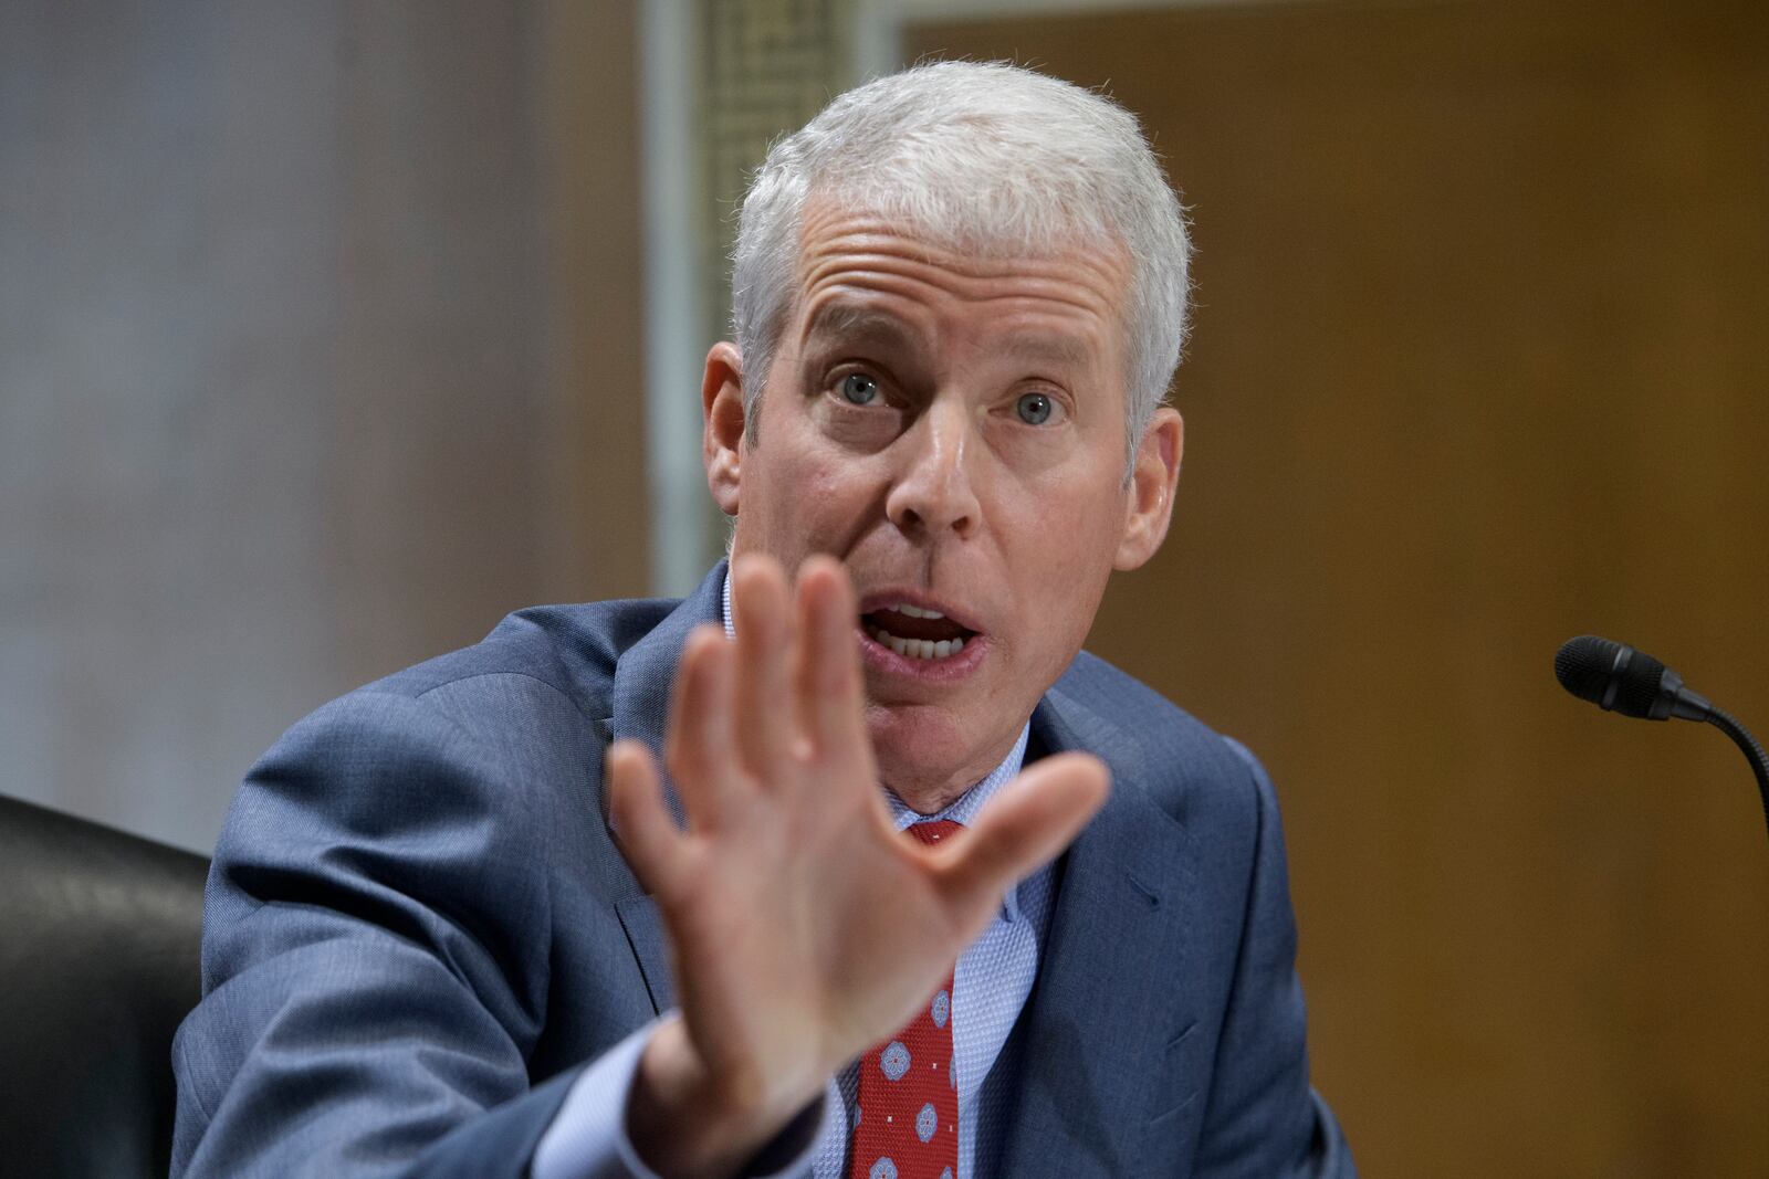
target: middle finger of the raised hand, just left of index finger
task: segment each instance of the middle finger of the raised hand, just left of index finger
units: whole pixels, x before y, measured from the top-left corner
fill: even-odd
[[[743,764],[761,785],[775,781],[793,741],[787,647],[791,590],[770,557],[741,557],[731,574],[738,626],[736,739]]]

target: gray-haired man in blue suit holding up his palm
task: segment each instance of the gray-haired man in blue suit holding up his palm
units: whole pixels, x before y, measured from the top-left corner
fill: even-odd
[[[1134,120],[1026,71],[777,145],[702,387],[729,576],[253,769],[173,1174],[1353,1174],[1270,783],[1079,654],[1166,536],[1187,249]]]

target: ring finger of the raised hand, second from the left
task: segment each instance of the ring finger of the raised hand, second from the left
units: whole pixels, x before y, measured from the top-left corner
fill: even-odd
[[[718,827],[745,794],[731,730],[731,654],[724,631],[695,628],[670,693],[663,764],[693,829]]]

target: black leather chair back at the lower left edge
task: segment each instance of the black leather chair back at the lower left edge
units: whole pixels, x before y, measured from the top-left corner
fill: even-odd
[[[207,871],[0,797],[0,1175],[165,1179]]]

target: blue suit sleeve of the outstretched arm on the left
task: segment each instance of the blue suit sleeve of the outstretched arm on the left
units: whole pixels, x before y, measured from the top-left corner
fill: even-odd
[[[253,767],[216,847],[203,999],[173,1046],[175,1179],[527,1172],[547,843],[520,772],[356,693]]]

